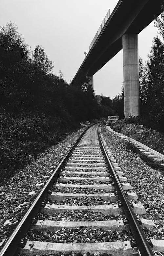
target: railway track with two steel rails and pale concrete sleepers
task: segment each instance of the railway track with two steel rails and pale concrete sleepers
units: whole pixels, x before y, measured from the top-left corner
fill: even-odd
[[[15,255],[154,255],[160,241],[150,246],[141,229],[154,223],[136,218],[145,208],[130,204],[137,195],[128,192],[131,185],[100,135],[100,124],[66,152],[0,255],[14,255],[18,247]]]

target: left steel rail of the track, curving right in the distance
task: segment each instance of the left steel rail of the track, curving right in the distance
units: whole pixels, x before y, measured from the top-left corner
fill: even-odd
[[[76,147],[80,139],[83,137],[83,135],[90,129],[93,125],[102,123],[97,122],[91,124],[73,143],[72,147],[69,149],[69,151],[66,153],[60,164],[56,167],[55,171],[53,172],[50,179],[47,181],[46,185],[43,187],[41,192],[38,194],[34,202],[32,203],[31,207],[25,214],[25,216],[22,218],[22,220],[19,222],[17,227],[14,229],[13,233],[10,235],[9,240],[4,245],[4,247],[0,251],[0,256],[13,256],[16,252],[20,240],[25,236],[28,228],[31,225],[32,219],[36,216],[37,211],[40,208],[41,203],[45,200],[45,198],[48,195],[48,191],[51,190],[51,187],[54,183],[54,181],[57,178],[57,175],[59,174],[60,170],[64,166],[65,162],[67,161],[68,157],[70,156],[72,150]]]

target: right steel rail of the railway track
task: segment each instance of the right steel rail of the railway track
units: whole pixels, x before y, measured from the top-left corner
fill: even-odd
[[[101,124],[100,124],[101,125]],[[141,253],[142,256],[155,256],[154,255],[154,252],[152,250],[152,248],[150,247],[141,227],[140,227],[140,224],[133,212],[133,209],[129,203],[129,200],[127,199],[127,196],[125,194],[125,192],[123,191],[122,189],[122,186],[119,182],[119,179],[113,169],[113,166],[109,160],[109,157],[107,155],[107,152],[105,150],[105,147],[104,147],[104,144],[103,144],[103,141],[101,139],[101,134],[100,134],[100,125],[97,129],[97,133],[98,133],[98,138],[99,138],[99,141],[101,143],[101,146],[102,146],[102,150],[103,150],[103,153],[104,153],[104,156],[105,156],[105,159],[107,161],[107,165],[109,166],[109,168],[111,169],[111,174],[113,176],[113,181],[114,181],[114,186],[117,190],[117,193],[118,193],[118,196],[119,196],[119,200],[121,201],[121,204],[122,204],[122,207],[123,207],[123,210],[126,214],[126,217],[128,219],[128,224],[131,228],[131,231],[132,231],[132,234],[133,234],[133,237],[137,243],[137,247]]]

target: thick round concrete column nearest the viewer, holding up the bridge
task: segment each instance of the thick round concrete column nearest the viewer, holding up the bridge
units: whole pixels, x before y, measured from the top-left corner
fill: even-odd
[[[139,115],[138,35],[122,37],[124,69],[124,115]]]

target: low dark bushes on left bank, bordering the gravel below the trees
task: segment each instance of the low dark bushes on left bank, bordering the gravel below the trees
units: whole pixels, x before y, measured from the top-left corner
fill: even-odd
[[[34,152],[44,152],[64,139],[72,127],[78,125],[57,117],[50,121],[39,112],[26,116],[0,115],[0,182],[5,182],[19,167],[27,166]]]

